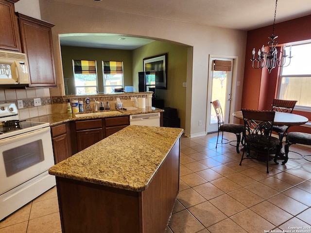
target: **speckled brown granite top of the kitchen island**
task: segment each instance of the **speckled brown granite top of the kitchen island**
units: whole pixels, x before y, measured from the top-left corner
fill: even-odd
[[[143,191],[183,129],[130,125],[52,166],[57,177]]]

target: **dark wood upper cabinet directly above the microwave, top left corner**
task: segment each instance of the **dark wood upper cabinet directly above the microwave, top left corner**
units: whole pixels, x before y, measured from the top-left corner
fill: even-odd
[[[18,0],[0,0],[0,49],[20,51],[17,17],[14,3]]]

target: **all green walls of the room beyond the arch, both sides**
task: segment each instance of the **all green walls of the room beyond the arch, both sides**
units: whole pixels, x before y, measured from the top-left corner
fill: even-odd
[[[134,85],[138,91],[138,72],[143,71],[143,58],[167,53],[167,89],[155,89],[165,107],[176,108],[180,118],[180,127],[185,129],[186,87],[187,82],[187,46],[169,42],[154,41],[136,50],[109,50],[85,47],[61,46],[64,78],[68,78],[68,94],[74,93],[72,60],[96,60],[100,87],[103,86],[101,61],[123,61],[124,86]],[[100,72],[101,71],[101,72]],[[70,87],[72,86],[72,87]],[[67,95],[67,93],[66,93]]]

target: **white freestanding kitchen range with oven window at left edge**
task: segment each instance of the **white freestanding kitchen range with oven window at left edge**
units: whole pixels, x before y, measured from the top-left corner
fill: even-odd
[[[20,121],[15,103],[0,103],[0,220],[52,188],[49,123]]]

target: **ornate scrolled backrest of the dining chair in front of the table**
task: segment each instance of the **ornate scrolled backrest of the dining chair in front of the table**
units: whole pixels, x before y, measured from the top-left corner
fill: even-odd
[[[270,142],[275,111],[243,109],[245,142],[268,144]]]

